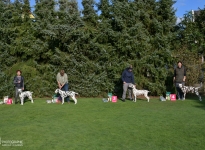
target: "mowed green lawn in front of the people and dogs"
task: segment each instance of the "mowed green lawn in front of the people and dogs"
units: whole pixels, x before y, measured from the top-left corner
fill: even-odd
[[[161,102],[47,104],[34,98],[23,106],[0,105],[1,141],[19,140],[25,150],[204,150],[205,98]]]

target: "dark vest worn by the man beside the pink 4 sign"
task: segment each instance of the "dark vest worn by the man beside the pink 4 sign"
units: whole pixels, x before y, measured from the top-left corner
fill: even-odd
[[[185,69],[184,66],[182,66],[181,68],[177,67],[174,70],[174,77],[175,77],[175,82],[176,83],[183,82],[184,76],[186,76],[186,69]]]

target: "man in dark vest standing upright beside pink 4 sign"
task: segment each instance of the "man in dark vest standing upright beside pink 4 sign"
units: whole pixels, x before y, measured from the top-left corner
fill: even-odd
[[[179,84],[182,86],[185,85],[186,80],[186,70],[185,67],[182,65],[181,61],[177,62],[177,67],[174,69],[174,78],[173,82],[175,83],[176,90],[177,90],[177,98],[178,100],[184,100],[184,93],[182,92]]]

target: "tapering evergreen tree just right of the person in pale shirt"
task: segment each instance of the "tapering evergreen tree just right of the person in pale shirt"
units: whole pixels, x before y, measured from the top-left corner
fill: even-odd
[[[107,94],[110,87],[106,80],[105,65],[100,61],[104,49],[96,38],[100,31],[98,29],[98,17],[93,5],[93,1],[83,1],[84,15],[82,19],[84,20],[84,26],[81,28],[81,37],[76,43],[78,53],[76,60],[79,64],[77,67],[81,76],[81,84],[77,89],[81,89],[86,96],[97,96],[103,92]]]

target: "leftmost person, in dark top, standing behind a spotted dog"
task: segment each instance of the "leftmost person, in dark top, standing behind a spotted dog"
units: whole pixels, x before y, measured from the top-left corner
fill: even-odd
[[[15,104],[17,104],[17,100],[19,98],[18,89],[24,90],[24,78],[21,76],[21,70],[16,71],[16,76],[14,77],[13,83],[15,85]]]

